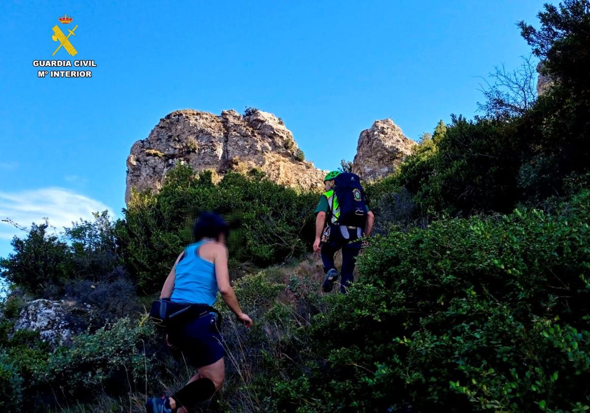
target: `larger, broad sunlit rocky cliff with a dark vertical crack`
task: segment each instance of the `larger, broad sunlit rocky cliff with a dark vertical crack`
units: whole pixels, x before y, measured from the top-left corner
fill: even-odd
[[[219,174],[247,172],[257,167],[282,185],[320,189],[325,171],[302,160],[293,134],[271,113],[252,111],[241,116],[224,110],[221,116],[196,110],[176,110],[154,127],[147,139],[138,140],[127,158],[127,189],[156,191],[165,173],[177,162],[196,172],[211,169]]]

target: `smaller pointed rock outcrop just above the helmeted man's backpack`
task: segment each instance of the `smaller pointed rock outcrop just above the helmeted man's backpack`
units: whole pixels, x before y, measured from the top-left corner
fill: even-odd
[[[376,120],[360,132],[352,172],[366,181],[383,178],[396,171],[415,145],[393,120]]]

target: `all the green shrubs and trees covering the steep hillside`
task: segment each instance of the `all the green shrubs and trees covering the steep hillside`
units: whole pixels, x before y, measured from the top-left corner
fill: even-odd
[[[230,222],[232,280],[255,323],[241,328],[218,303],[228,374],[203,409],[590,409],[590,3],[547,5],[540,20],[520,28],[553,86],[526,107],[500,99],[438,124],[367,185],[378,235],[346,296],[320,293],[307,255],[317,194],[256,169],[215,183],[177,166],[158,194],[133,193],[120,221],[97,214],[61,238],[33,225],[0,261],[15,286],[1,309],[0,406],[139,412],[146,394],[182,386],[188,369],[145,306],[209,209]],[[72,317],[86,333],[51,347],[22,328],[41,298],[88,303],[92,317]]]

